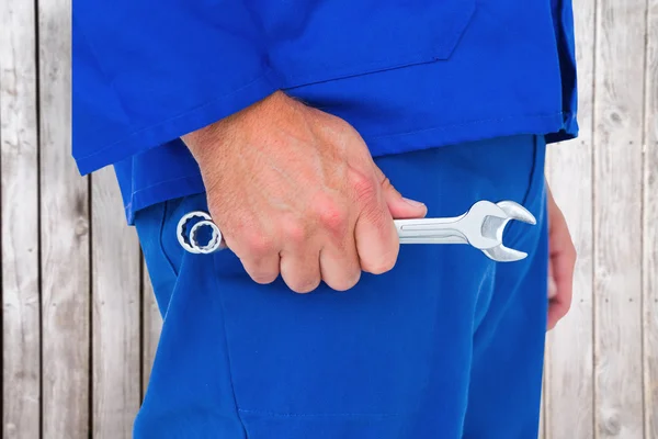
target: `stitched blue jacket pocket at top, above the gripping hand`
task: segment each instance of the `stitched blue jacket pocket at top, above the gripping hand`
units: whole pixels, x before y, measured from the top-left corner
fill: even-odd
[[[269,61],[285,87],[447,59],[475,0],[280,2],[259,14]]]

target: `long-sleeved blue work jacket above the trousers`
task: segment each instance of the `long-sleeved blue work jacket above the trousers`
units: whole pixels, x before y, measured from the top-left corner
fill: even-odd
[[[275,90],[373,156],[572,138],[570,0],[115,0],[73,8],[73,156],[114,165],[128,222],[203,192],[180,136]]]

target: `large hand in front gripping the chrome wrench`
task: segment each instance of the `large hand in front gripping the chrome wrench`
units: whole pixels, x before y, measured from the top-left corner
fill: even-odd
[[[259,283],[281,273],[298,293],[320,280],[348,290],[362,270],[394,267],[394,217],[427,213],[393,188],[352,126],[282,92],[183,140],[213,221]]]

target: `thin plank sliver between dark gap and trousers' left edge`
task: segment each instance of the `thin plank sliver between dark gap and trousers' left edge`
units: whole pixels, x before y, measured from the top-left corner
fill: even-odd
[[[162,317],[158,311],[158,303],[154,295],[154,286],[150,282],[146,263],[143,261],[144,295],[141,309],[141,389],[143,395],[148,386],[148,379],[156,357],[160,331],[162,330]]]

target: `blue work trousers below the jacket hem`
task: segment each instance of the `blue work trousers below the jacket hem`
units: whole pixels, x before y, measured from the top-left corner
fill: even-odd
[[[229,250],[175,236],[205,194],[151,205],[135,224],[163,317],[135,437],[219,439],[536,438],[546,327],[543,136],[376,157],[428,216],[512,200],[501,263],[465,245],[402,245],[395,268],[348,292],[295,294],[250,280]]]

